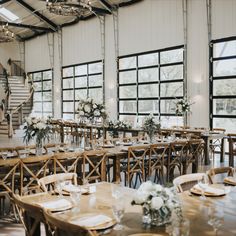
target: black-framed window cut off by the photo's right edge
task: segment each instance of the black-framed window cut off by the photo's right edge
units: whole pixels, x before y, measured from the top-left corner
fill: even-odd
[[[210,47],[210,124],[236,132],[236,37]]]

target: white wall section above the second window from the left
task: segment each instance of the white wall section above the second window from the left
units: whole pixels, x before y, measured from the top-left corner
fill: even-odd
[[[97,18],[63,29],[63,65],[100,59],[101,35]]]

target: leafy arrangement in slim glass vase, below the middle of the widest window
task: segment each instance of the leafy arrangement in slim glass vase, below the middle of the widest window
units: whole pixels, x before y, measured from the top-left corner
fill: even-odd
[[[161,124],[155,121],[155,117],[152,113],[145,118],[143,123],[143,129],[147,132],[150,142],[153,142],[154,133],[158,132],[161,128]]]

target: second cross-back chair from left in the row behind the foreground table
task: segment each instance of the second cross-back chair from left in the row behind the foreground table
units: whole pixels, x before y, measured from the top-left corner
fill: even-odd
[[[21,159],[21,188],[20,195],[37,192],[38,179],[49,175],[52,167],[52,156],[43,155]]]

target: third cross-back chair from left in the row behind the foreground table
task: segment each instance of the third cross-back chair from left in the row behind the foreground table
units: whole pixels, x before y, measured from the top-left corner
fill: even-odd
[[[83,152],[67,152],[54,155],[53,173],[77,173],[82,178]]]

